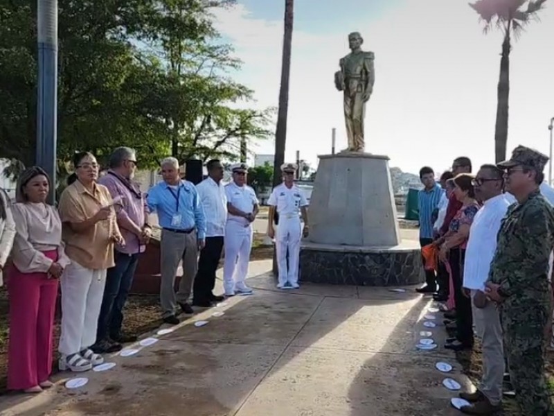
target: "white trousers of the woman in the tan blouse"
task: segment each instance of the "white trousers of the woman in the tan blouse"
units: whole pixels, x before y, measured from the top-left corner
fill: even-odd
[[[65,268],[62,286],[60,353],[71,355],[96,343],[98,315],[106,286],[106,269],[84,268],[75,261]]]

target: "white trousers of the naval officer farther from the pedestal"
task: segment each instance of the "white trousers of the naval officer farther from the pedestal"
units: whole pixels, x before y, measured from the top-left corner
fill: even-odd
[[[223,263],[223,287],[226,295],[235,293],[235,287],[244,288],[244,279],[248,275],[252,236],[251,224],[244,227],[238,221],[227,221]]]

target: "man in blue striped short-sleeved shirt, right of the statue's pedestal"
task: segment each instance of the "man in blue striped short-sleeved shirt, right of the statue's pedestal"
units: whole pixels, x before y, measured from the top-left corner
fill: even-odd
[[[438,204],[443,197],[443,189],[435,182],[435,173],[429,166],[420,169],[420,180],[423,189],[418,195],[418,208],[420,213],[420,245],[433,243],[433,225],[438,214]],[[425,264],[425,261],[424,261]],[[434,293],[437,288],[434,270],[425,270],[427,284],[416,289],[419,293]]]

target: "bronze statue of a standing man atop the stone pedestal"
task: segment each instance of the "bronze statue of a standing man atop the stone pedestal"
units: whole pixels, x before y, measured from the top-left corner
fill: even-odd
[[[348,135],[346,152],[364,152],[364,118],[375,83],[373,52],[361,50],[364,43],[358,32],[348,35],[352,51],[340,60],[341,70],[334,74],[334,85],[344,92],[344,119]]]

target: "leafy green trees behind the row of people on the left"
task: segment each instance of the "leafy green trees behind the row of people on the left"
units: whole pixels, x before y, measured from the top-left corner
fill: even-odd
[[[238,158],[238,142],[269,135],[271,109],[226,73],[240,67],[221,44],[211,10],[234,0],[59,0],[58,158],[100,160],[136,148],[141,167],[172,153]],[[36,10],[0,3],[0,157],[35,159]],[[18,161],[18,162],[16,162]],[[63,177],[61,172],[60,177]]]

